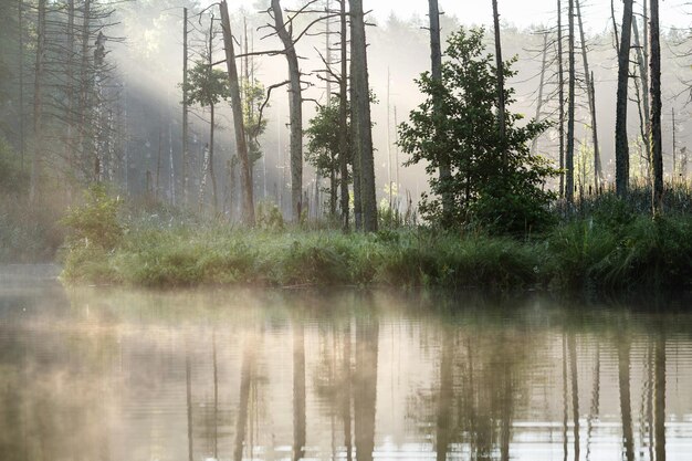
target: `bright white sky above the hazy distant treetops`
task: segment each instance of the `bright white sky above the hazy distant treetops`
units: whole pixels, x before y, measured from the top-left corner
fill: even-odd
[[[692,7],[684,7],[686,0],[660,1],[661,25],[688,27],[692,22],[692,17],[686,13],[692,12]],[[244,4],[250,7],[255,0],[231,1],[230,4]],[[292,4],[294,1],[284,0],[282,3]],[[427,14],[427,0],[364,0],[366,10],[371,10],[378,20],[385,20],[395,11],[400,18],[409,18],[418,14],[421,18]],[[491,0],[439,0],[440,10],[449,14],[457,15],[463,23],[490,23],[492,19]],[[526,27],[553,22],[555,18],[556,0],[499,0],[500,14],[504,21]],[[566,8],[567,0],[563,0]],[[615,0],[617,9],[617,21],[622,21],[620,0]],[[587,28],[594,31],[601,31],[610,23],[610,1],[609,0],[583,0],[583,14]],[[641,3],[636,10],[641,9]]]

